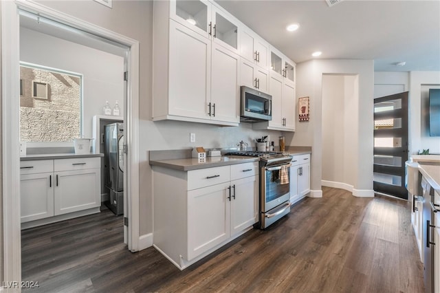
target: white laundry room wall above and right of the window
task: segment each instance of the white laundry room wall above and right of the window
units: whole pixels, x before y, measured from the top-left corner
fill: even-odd
[[[124,113],[124,58],[63,39],[20,29],[20,60],[83,74],[83,135],[92,137],[92,118],[106,100]]]

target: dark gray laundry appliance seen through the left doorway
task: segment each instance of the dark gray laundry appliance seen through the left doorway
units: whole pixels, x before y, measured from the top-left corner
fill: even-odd
[[[105,205],[116,215],[124,214],[124,124],[105,125],[104,174],[109,200]]]

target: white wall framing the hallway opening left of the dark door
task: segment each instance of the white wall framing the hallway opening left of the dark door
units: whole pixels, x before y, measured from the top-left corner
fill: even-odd
[[[322,180],[322,75],[342,74],[358,76],[358,99],[354,99],[353,130],[353,195],[373,196],[373,82],[372,60],[314,60],[296,67],[296,96],[310,97],[310,121],[298,123],[296,133],[289,136],[292,145],[311,145],[311,189],[319,191]],[[354,90],[354,89],[353,89]]]

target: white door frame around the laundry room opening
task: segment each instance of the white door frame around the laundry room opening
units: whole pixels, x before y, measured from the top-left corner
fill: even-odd
[[[1,1],[1,160],[2,160],[2,231],[3,278],[1,281],[21,281],[20,223],[20,158],[19,158],[19,8],[41,14],[129,47],[126,89],[126,192],[127,246],[139,250],[139,42],[122,34],[100,28],[63,12],[25,0]],[[121,77],[122,78],[122,77]],[[125,228],[125,226],[124,226]],[[1,235],[0,235],[1,236]],[[1,268],[0,268],[1,269]],[[8,290],[8,289],[6,289]]]

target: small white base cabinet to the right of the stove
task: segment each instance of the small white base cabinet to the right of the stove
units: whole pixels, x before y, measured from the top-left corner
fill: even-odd
[[[290,202],[293,204],[310,192],[310,154],[293,156],[289,181]]]

